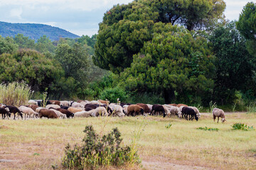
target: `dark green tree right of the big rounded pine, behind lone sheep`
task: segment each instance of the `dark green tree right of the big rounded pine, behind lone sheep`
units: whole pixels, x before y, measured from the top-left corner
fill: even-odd
[[[222,104],[232,103],[235,91],[253,89],[255,57],[247,52],[245,38],[234,22],[216,28],[209,39],[216,56],[215,99]]]

